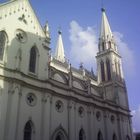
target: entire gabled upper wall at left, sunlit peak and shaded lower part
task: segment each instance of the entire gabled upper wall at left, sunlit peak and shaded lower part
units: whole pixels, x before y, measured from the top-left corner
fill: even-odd
[[[28,0],[8,1],[0,5],[1,30],[5,31],[8,37],[3,59],[3,62],[6,64],[5,66],[16,69],[16,55],[19,48],[21,48],[21,71],[28,74],[30,50],[33,46],[37,46],[41,54],[40,56],[38,55],[37,63],[39,65],[37,65],[37,69],[38,72],[41,71],[38,74],[43,75],[45,73],[44,67],[49,57],[49,38],[46,38]]]

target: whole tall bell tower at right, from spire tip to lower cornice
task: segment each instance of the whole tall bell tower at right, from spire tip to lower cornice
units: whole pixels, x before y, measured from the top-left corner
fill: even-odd
[[[96,59],[98,84],[104,88],[104,97],[128,107],[121,56],[103,8]]]

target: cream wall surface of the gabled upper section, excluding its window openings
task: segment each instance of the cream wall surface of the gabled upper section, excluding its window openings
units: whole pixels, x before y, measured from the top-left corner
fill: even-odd
[[[1,8],[0,13],[0,16],[2,17],[0,20],[0,30],[4,30],[8,36],[8,43],[5,48],[4,58],[6,67],[10,69],[17,69],[16,63],[17,61],[20,61],[17,58],[17,53],[18,50],[21,49],[22,54],[20,70],[25,74],[29,74],[29,53],[31,47],[35,45],[39,50],[37,77],[39,79],[46,80],[48,75],[47,62],[49,57],[47,47],[49,47],[49,44],[44,42],[46,38],[42,28],[38,25],[35,16],[26,1],[15,1],[13,5],[7,7],[6,11]],[[23,14],[25,16],[26,23],[19,20]],[[24,43],[17,39],[17,30],[21,30],[26,34],[26,41]],[[47,46],[46,49],[43,47],[42,42],[44,42]]]

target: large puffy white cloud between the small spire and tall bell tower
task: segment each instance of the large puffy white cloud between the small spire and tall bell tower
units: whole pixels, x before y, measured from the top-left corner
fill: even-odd
[[[72,63],[84,63],[87,68],[95,67],[97,37],[93,27],[83,28],[76,21],[70,23],[70,58]]]

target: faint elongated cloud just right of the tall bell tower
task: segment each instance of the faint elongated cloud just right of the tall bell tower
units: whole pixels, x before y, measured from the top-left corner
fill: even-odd
[[[125,74],[127,76],[133,75],[135,73],[134,52],[128,47],[128,44],[123,41],[123,34],[119,32],[114,32],[113,34],[122,56]]]

